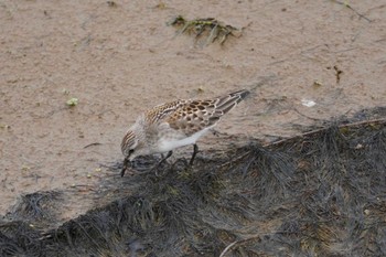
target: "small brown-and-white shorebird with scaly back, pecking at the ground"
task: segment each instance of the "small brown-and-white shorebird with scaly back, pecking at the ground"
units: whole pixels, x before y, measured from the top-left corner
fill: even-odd
[[[125,156],[120,175],[125,175],[128,162],[138,156],[168,152],[163,162],[172,156],[173,149],[187,144],[193,144],[192,165],[199,151],[196,140],[248,94],[248,90],[238,90],[205,100],[175,100],[140,115],[120,144]]]

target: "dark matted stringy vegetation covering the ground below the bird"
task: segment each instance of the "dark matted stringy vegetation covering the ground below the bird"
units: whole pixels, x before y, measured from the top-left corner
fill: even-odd
[[[385,256],[386,109],[375,115],[158,175],[120,180],[117,164],[107,203],[55,228],[61,194],[24,195],[0,223],[0,255]]]

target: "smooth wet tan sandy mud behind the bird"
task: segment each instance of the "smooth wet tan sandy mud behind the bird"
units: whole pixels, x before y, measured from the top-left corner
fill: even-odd
[[[68,189],[64,215],[86,212],[137,115],[175,98],[251,92],[202,149],[385,106],[386,2],[346,2],[0,0],[0,214],[20,194]],[[204,46],[167,25],[179,14],[243,35]]]

